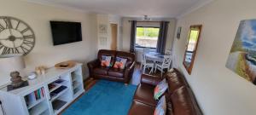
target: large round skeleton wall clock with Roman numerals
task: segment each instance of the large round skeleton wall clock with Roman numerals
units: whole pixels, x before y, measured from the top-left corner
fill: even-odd
[[[27,55],[35,45],[35,34],[24,21],[0,16],[0,55]]]

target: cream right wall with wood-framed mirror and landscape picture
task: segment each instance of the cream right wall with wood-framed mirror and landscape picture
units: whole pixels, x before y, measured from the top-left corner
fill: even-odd
[[[256,86],[225,67],[240,20],[256,18],[255,0],[215,0],[177,20],[181,38],[175,38],[175,66],[188,79],[206,115],[255,115]],[[182,62],[189,26],[202,24],[192,74]],[[177,30],[177,29],[176,29]]]

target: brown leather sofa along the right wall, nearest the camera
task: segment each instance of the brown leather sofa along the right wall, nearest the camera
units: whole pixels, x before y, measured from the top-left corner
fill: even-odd
[[[168,83],[166,90],[166,115],[202,115],[192,90],[183,75],[172,69],[164,76]],[[142,75],[137,87],[129,115],[153,115],[157,101],[154,100],[154,87],[162,79],[151,75]]]

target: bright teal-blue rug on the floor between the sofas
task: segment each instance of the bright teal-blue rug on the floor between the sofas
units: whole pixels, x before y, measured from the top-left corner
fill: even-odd
[[[137,86],[100,80],[63,115],[127,115]]]

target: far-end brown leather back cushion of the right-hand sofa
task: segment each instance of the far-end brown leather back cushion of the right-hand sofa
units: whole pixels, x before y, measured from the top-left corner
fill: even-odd
[[[173,93],[174,90],[185,85],[185,82],[181,75],[177,72],[166,72],[165,74],[166,82],[168,83],[169,93]]]

